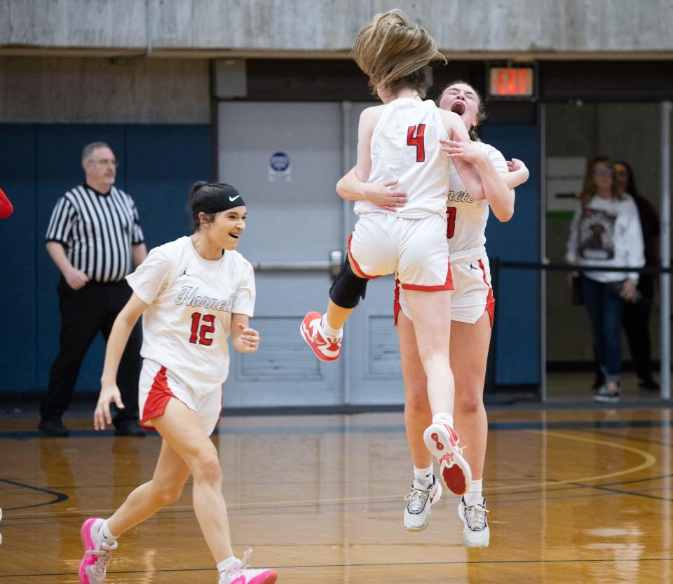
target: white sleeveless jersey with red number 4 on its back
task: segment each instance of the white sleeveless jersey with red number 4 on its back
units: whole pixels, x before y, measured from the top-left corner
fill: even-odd
[[[440,151],[440,138],[449,139],[435,103],[403,97],[383,108],[372,134],[369,183],[397,179],[395,190],[408,195],[395,215],[420,218],[444,214],[451,162]],[[355,213],[383,211],[367,201],[355,202]]]

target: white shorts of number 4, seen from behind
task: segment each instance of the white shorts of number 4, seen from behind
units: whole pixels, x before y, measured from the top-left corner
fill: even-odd
[[[451,290],[447,220],[366,213],[355,223],[348,253],[360,274],[378,278],[397,272],[405,290]]]

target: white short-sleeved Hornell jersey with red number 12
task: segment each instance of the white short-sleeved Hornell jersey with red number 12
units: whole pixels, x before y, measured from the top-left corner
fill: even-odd
[[[196,393],[219,389],[229,373],[231,314],[252,317],[252,265],[233,250],[205,260],[189,237],[180,237],[152,249],[126,279],[150,305],[142,316],[140,354]]]

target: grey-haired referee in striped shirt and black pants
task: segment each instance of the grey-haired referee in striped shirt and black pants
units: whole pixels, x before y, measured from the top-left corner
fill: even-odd
[[[86,182],[56,203],[46,235],[47,251],[61,272],[57,286],[61,331],[40,405],[39,429],[67,436],[62,422],[82,361],[100,331],[109,337],[118,312],[131,295],[124,277],[147,257],[138,212],[129,195],[114,186],[117,161],[104,142],[82,151]],[[144,436],[138,424],[140,333],[136,326],[118,371],[125,408],[113,422],[117,436]]]

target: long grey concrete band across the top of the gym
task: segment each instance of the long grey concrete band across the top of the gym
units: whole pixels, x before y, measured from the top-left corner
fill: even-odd
[[[441,50],[673,50],[672,0],[399,0]],[[337,52],[383,0],[0,0],[0,48]],[[3,47],[4,46],[4,47]],[[473,55],[474,56],[474,55]]]

